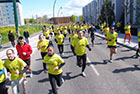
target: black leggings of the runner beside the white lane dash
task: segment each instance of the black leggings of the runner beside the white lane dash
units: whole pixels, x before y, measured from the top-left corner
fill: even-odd
[[[77,56],[77,65],[81,66],[82,65],[82,72],[84,72],[85,68],[86,68],[86,54],[82,55],[82,56]]]

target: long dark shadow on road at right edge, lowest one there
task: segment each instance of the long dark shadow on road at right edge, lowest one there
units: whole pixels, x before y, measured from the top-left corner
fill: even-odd
[[[137,71],[140,70],[138,67],[139,65],[133,65],[133,67],[127,67],[127,68],[122,68],[122,69],[115,69],[112,71],[112,73],[121,73],[121,72],[129,72],[129,71]]]

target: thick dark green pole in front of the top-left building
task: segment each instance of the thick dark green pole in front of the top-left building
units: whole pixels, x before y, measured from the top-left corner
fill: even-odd
[[[14,18],[15,18],[15,28],[16,28],[16,36],[19,36],[18,33],[18,15],[17,15],[17,6],[16,6],[16,0],[13,0],[13,8],[14,8]]]

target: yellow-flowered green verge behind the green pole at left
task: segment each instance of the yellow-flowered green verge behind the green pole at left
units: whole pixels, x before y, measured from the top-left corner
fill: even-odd
[[[19,26],[19,34],[21,36],[23,36],[23,32],[26,29],[29,32],[29,34],[32,35],[33,33],[40,32],[42,30],[43,25],[44,24],[40,24],[40,25],[34,24],[34,25]],[[50,25],[47,24],[46,26],[49,27]],[[3,28],[0,28],[0,33],[2,35],[2,44],[9,42],[9,40],[8,40],[9,30],[11,30],[13,32],[13,34],[14,34],[14,36],[16,38],[16,31],[15,31],[15,27],[14,26],[13,27],[3,27]]]

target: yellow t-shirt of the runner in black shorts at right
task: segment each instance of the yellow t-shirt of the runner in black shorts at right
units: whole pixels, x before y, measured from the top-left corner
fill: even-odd
[[[106,39],[111,40],[108,41],[108,46],[116,46],[117,38],[118,38],[118,34],[116,32],[114,32],[113,34],[109,32],[106,37]]]

